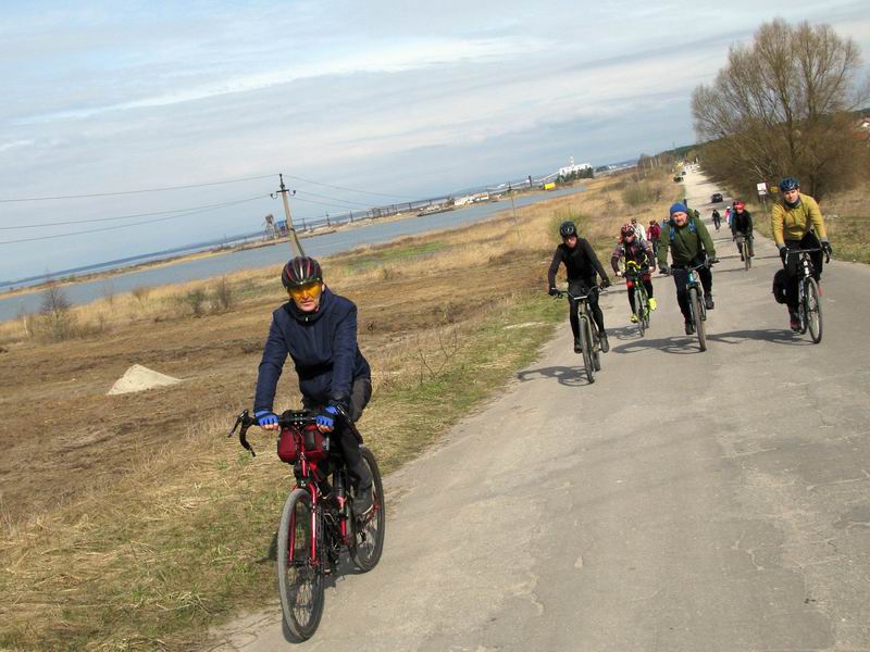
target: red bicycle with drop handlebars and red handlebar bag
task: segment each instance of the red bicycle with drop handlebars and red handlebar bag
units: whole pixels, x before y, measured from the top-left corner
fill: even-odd
[[[330,450],[328,434],[315,425],[314,412],[287,411],[278,417],[278,454],[294,466],[296,485],[287,496],[277,535],[278,597],[287,628],[299,640],[313,636],[324,606],[324,581],[344,551],[363,573],[371,570],[384,550],[386,510],[381,472],[372,452],[347,413],[339,408],[344,427],[360,442],[362,459],[372,475],[372,509],[353,516],[353,488],[338,447]],[[228,437],[238,428],[239,443],[254,455],[247,440],[257,419],[245,410]],[[332,469],[332,484],[328,481]]]

